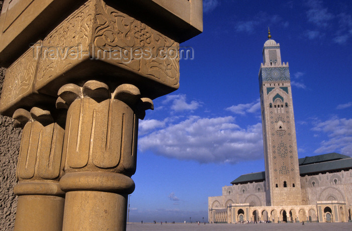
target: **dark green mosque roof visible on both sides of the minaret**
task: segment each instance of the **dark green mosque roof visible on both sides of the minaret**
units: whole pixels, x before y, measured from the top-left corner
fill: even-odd
[[[300,158],[298,159],[298,163],[301,176],[352,169],[352,158],[336,152]],[[241,175],[232,181],[231,184],[246,184],[261,181],[265,181],[265,171]]]

